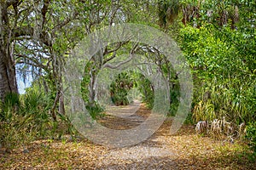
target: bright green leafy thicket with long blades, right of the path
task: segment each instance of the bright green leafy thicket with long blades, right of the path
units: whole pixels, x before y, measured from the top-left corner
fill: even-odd
[[[212,25],[188,26],[181,37],[194,74],[195,121],[221,116],[236,124],[255,120],[255,59],[253,51],[241,52],[243,33],[229,27],[220,31]]]

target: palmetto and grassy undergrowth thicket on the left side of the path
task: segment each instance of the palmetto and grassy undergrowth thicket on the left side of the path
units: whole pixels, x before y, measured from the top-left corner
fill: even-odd
[[[8,94],[0,104],[0,144],[3,148],[9,150],[34,139],[60,138],[63,133],[70,133],[71,125],[66,116],[59,116],[58,122],[54,122],[49,109],[49,98],[37,89],[31,88],[26,94]]]

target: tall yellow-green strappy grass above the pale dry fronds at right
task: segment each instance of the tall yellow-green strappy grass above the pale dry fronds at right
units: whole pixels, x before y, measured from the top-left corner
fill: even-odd
[[[236,79],[219,83],[213,79],[201,87],[195,99],[194,120],[212,121],[224,116],[236,124],[253,122],[256,113],[255,96],[255,87],[251,83],[237,83]]]

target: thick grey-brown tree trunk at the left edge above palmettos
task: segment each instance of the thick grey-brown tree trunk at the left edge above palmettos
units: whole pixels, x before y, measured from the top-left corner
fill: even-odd
[[[2,46],[2,44],[1,44]],[[0,99],[3,100],[8,93],[18,94],[16,82],[15,62],[11,54],[6,51],[8,47],[0,49]]]

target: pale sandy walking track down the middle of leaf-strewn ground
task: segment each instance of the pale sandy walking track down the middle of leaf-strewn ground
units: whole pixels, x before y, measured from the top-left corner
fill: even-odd
[[[150,110],[139,101],[135,101],[131,105],[108,107],[107,116],[102,118],[99,122],[105,127],[113,129],[128,129],[137,127],[140,123],[144,122],[149,115]],[[158,160],[155,160],[156,157]],[[170,159],[172,160],[176,157],[177,153],[166,144],[166,141],[154,135],[146,141],[143,141],[143,143],[136,144],[135,146],[108,150],[107,154],[99,157],[99,159],[102,160],[99,162],[99,165],[101,165],[102,169],[144,169],[146,167],[148,169],[156,169],[160,168],[162,165],[166,165]],[[160,158],[168,159],[159,160]],[[125,163],[127,166],[122,167],[121,162]],[[167,167],[170,166],[174,166],[175,169],[177,169],[174,161]]]

